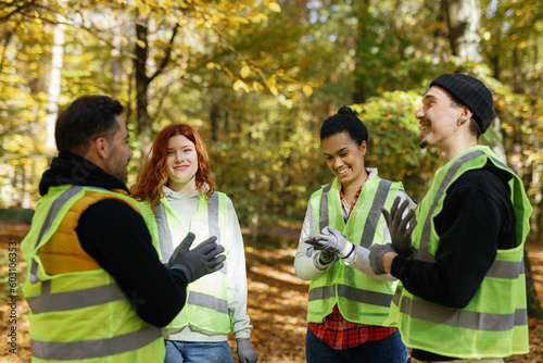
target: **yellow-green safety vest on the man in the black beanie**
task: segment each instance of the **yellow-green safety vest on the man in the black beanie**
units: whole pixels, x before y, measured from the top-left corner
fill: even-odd
[[[402,340],[409,348],[463,359],[503,358],[529,351],[522,258],[532,208],[520,178],[488,147],[470,148],[435,173],[430,190],[416,211],[415,260],[435,262],[440,237],[433,220],[443,209],[447,188],[464,173],[482,168],[489,160],[512,175],[508,184],[517,215],[516,247],[497,250],[481,286],[463,309],[431,303],[399,284],[390,316],[391,322],[397,322]]]

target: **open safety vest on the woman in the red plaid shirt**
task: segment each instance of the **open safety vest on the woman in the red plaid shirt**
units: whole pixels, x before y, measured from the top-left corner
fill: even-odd
[[[341,231],[352,243],[369,248],[382,243],[379,224],[383,223],[380,208],[390,210],[401,183],[375,176],[366,182],[345,223],[340,201],[338,179],[324,186],[311,197],[310,203],[319,230],[327,225]],[[332,265],[311,281],[307,322],[320,323],[338,304],[341,315],[353,323],[383,325],[396,283],[369,277],[343,260]]]

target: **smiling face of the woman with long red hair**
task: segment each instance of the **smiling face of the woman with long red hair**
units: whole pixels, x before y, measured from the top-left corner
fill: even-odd
[[[182,135],[169,138],[166,171],[168,187],[175,191],[195,190],[194,176],[198,173],[198,152],[194,143]]]

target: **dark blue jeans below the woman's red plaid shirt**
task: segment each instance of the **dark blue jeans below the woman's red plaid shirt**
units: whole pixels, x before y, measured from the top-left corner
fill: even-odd
[[[384,339],[366,341],[358,347],[337,350],[318,339],[307,328],[305,336],[305,359],[307,363],[406,363],[407,347],[396,330]]]

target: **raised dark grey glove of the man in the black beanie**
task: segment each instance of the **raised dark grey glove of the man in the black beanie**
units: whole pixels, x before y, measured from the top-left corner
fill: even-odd
[[[396,253],[403,255],[404,258],[408,258],[413,254],[412,248],[412,239],[411,235],[413,229],[417,225],[417,220],[409,220],[415,214],[415,210],[409,210],[407,214],[403,217],[405,209],[409,204],[407,200],[404,200],[400,206],[400,197],[394,199],[394,203],[392,203],[392,208],[389,212],[381,206],[382,215],[384,216],[384,221],[387,221],[387,226],[389,227],[390,238],[392,239],[392,245],[396,250]],[[407,227],[407,223],[409,223],[409,227]]]

